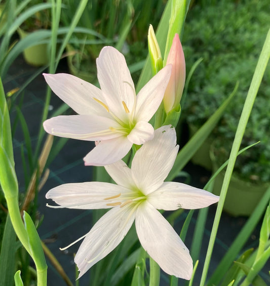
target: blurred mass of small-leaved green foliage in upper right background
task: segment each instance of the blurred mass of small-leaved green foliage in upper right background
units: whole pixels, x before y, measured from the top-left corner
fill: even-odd
[[[198,58],[204,58],[190,80],[185,102],[187,121],[201,126],[239,81],[235,99],[213,133],[221,150],[220,161],[228,157],[232,146],[256,58],[267,32],[269,13],[267,1],[221,1],[212,6],[195,5],[187,18],[183,38],[187,70]],[[235,167],[243,179],[252,182],[270,181],[267,171],[270,167],[269,76],[268,67],[242,145],[261,142],[241,156]]]

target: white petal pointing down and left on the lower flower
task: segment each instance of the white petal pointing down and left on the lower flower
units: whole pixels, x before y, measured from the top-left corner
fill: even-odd
[[[108,211],[87,234],[75,256],[80,275],[109,254],[123,240],[129,231],[135,214],[126,206]]]

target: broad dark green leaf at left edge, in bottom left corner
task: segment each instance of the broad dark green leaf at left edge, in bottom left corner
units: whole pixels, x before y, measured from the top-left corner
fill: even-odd
[[[16,233],[7,215],[0,254],[0,286],[13,285],[15,271]]]

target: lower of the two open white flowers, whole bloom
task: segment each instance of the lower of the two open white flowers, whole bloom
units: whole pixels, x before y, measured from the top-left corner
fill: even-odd
[[[164,126],[136,152],[131,169],[122,160],[105,167],[117,185],[71,183],[47,193],[60,205],[55,208],[111,208],[86,234],[75,256],[79,277],[118,246],[135,220],[138,238],[149,256],[168,274],[190,279],[189,251],[157,209],[199,209],[219,197],[182,183],[164,182],[177,151],[175,129]]]

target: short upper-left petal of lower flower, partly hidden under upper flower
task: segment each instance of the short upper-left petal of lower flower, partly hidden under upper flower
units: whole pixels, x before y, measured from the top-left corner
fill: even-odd
[[[123,160],[107,165],[105,166],[105,169],[118,185],[126,188],[134,186],[131,170]]]

